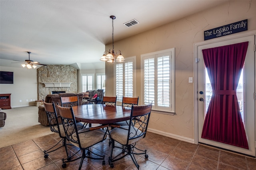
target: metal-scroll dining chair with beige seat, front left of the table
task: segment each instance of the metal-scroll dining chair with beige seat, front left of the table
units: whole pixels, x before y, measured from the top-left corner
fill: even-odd
[[[89,148],[106,139],[106,132],[103,131],[102,128],[108,127],[108,125],[100,125],[98,127],[90,127],[90,128],[84,128],[84,129],[78,130],[76,126],[76,119],[74,116],[74,111],[72,106],[62,107],[57,104],[57,108],[59,110],[62,125],[66,135],[66,139],[70,141],[70,143],[72,143],[74,146],[82,150],[82,156],[78,158],[74,158],[73,160],[63,158],[62,168],[66,168],[67,162],[72,162],[72,161],[81,159],[80,165],[79,165],[79,170],[80,170],[82,168],[84,158],[103,160],[102,165],[105,165],[105,160],[104,160],[105,156],[96,154],[91,150],[89,150]],[[73,125],[74,125],[74,128],[70,128]],[[78,150],[78,152],[80,150]],[[78,152],[74,153],[72,156],[76,155]],[[92,156],[91,156],[91,153],[93,154]]]

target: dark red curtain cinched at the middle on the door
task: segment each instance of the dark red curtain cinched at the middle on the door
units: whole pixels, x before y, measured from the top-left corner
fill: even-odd
[[[202,138],[248,149],[236,88],[248,42],[202,50],[212,86],[212,98]]]

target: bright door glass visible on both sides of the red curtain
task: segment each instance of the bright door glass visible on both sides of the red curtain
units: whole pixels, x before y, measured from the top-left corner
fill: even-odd
[[[240,79],[239,79],[238,86],[236,89],[236,96],[238,99],[240,112],[241,112],[242,120],[244,123],[244,74],[243,73],[244,73],[244,68],[242,69],[242,72],[240,75]],[[212,86],[210,84],[210,79],[208,76],[207,69],[205,69],[205,113],[204,113],[204,117],[206,115],[206,111],[208,109],[211,98],[212,98]]]

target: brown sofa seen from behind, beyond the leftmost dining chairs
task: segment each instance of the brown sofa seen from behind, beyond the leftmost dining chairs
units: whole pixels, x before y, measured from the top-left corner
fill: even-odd
[[[68,96],[77,96],[78,95],[78,104],[82,105],[83,100],[83,94],[82,93],[60,93],[60,94],[48,94],[45,97],[44,102],[46,103],[52,103],[54,102],[55,105],[57,103],[61,104],[60,96],[62,97],[68,97]],[[58,115],[58,109],[56,109],[57,115]],[[38,122],[41,123],[41,125],[48,126],[48,118],[46,116],[46,112],[44,109],[44,105],[38,106]]]

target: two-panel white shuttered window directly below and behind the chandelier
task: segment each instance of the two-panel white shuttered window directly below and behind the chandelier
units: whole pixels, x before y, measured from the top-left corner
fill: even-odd
[[[135,57],[129,57],[114,65],[116,96],[119,101],[122,101],[123,96],[134,96],[134,63]]]

